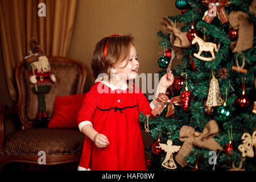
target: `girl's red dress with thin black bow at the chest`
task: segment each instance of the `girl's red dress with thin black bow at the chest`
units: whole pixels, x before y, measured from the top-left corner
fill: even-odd
[[[85,137],[79,167],[94,171],[146,170],[139,113],[154,117],[151,111],[140,89],[130,93],[128,88],[112,90],[96,82],[86,93],[77,122],[90,121],[98,133],[108,138],[109,145],[98,148]]]

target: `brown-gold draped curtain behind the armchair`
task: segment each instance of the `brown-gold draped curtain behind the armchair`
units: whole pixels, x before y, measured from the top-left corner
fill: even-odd
[[[44,3],[46,16],[43,12]],[[1,0],[0,38],[6,82],[16,100],[14,71],[31,49],[35,37],[45,55],[67,56],[75,22],[77,0]]]

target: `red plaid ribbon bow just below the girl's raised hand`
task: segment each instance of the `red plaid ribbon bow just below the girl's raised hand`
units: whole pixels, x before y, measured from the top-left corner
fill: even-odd
[[[171,100],[166,96],[164,93],[159,93],[158,98],[156,98],[156,101],[160,102],[158,106],[155,107],[155,109],[152,110],[152,114],[155,116],[156,114],[162,113],[164,108],[168,107],[166,117],[174,114],[174,105],[182,106],[182,99],[180,96],[172,97]]]

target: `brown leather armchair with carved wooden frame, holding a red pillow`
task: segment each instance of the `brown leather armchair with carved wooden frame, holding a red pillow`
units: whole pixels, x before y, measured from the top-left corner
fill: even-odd
[[[48,56],[55,84],[46,94],[46,109],[53,115],[56,96],[82,93],[86,80],[86,68],[67,57]],[[39,151],[46,152],[46,165],[77,162],[80,159],[84,135],[79,129],[34,128],[33,120],[38,111],[38,97],[31,90],[28,68],[23,61],[15,69],[18,101],[15,106],[20,130],[5,136],[5,106],[0,106],[0,170],[9,162],[38,164]]]

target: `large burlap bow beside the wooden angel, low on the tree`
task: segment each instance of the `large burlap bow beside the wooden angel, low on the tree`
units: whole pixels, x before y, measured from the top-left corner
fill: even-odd
[[[216,121],[210,120],[207,125],[205,125],[202,133],[198,133],[191,126],[182,126],[180,129],[180,141],[184,141],[182,147],[177,153],[175,160],[180,164],[181,167],[187,165],[184,156],[189,156],[192,148],[194,146],[200,148],[207,148],[208,150],[217,151],[223,150],[223,148],[213,139],[218,135],[218,125]]]

